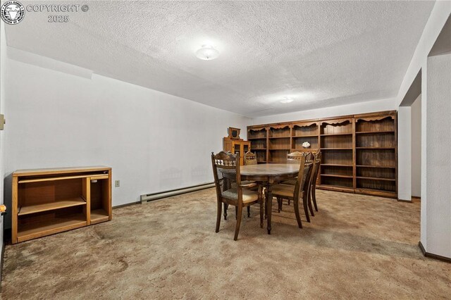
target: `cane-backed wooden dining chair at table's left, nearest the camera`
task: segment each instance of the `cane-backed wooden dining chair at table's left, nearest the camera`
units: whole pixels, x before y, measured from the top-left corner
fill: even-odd
[[[221,151],[218,154],[211,153],[211,164],[213,165],[214,183],[216,186],[216,198],[218,202],[218,213],[216,215],[216,232],[221,225],[221,210],[224,204],[224,219],[227,219],[227,207],[236,207],[237,223],[235,225],[235,241],[240,232],[242,219],[242,208],[252,204],[260,204],[260,227],[263,228],[263,199],[261,187],[252,191],[242,186],[240,178],[240,159],[230,152]]]

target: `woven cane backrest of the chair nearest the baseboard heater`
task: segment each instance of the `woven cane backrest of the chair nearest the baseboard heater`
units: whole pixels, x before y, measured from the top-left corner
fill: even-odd
[[[226,199],[242,199],[240,184],[240,163],[235,154],[221,151],[211,154],[216,194]]]

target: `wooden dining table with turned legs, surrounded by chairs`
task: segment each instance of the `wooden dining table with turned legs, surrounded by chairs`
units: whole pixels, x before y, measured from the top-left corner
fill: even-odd
[[[264,187],[266,196],[266,220],[268,235],[271,235],[271,212],[273,206],[273,185],[280,180],[287,180],[299,174],[296,163],[261,163],[258,165],[242,165],[241,180],[257,181]]]

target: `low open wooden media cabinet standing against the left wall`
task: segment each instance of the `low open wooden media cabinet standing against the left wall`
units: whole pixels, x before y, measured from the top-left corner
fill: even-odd
[[[12,243],[111,220],[111,168],[13,173]]]

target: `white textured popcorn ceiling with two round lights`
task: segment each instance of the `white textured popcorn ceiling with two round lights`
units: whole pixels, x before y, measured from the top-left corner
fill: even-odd
[[[27,12],[8,46],[251,117],[396,96],[434,4],[82,2],[68,23]],[[206,43],[219,58],[196,58]]]

